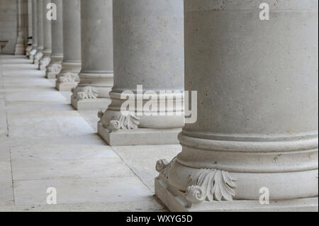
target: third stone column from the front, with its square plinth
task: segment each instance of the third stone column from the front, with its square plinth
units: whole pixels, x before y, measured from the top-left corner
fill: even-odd
[[[78,110],[108,107],[113,86],[112,0],[81,1],[82,70],[71,101]]]

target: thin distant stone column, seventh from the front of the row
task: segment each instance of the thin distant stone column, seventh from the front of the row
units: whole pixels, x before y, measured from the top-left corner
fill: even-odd
[[[41,58],[43,57],[44,39],[43,39],[43,0],[37,2],[37,15],[38,15],[38,48],[34,57],[34,64],[39,67]]]

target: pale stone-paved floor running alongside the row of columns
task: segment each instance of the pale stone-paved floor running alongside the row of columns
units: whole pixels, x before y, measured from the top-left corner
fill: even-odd
[[[26,57],[0,55],[0,211],[166,211],[155,163],[180,145],[109,147],[97,112],[74,110],[70,96]]]

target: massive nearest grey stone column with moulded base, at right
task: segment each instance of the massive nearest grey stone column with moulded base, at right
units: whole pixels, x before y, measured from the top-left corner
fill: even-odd
[[[318,211],[318,1],[267,1],[269,21],[263,2],[185,1],[198,120],[182,152],[157,162],[170,210]],[[260,205],[268,192],[277,202]]]

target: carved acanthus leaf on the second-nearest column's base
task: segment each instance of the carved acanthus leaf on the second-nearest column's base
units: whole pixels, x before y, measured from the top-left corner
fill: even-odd
[[[108,123],[109,130],[135,130],[140,125],[140,118],[132,113],[118,111]]]

